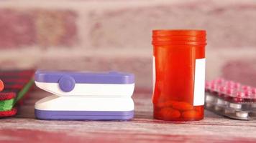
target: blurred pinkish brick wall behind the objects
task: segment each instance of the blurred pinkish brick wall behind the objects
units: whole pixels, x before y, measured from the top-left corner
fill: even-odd
[[[206,79],[256,86],[254,0],[0,1],[0,69],[129,71],[151,89],[152,29],[206,29]]]

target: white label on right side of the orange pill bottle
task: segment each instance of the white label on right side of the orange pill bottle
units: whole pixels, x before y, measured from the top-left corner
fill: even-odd
[[[204,105],[206,59],[196,59],[193,106]]]

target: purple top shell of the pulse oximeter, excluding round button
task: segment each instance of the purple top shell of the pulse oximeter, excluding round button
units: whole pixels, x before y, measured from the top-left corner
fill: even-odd
[[[43,71],[35,72],[36,82],[58,83],[65,76],[65,79],[73,78],[79,84],[133,84],[134,74],[123,72],[82,72],[82,71]],[[72,84],[72,83],[71,83]]]

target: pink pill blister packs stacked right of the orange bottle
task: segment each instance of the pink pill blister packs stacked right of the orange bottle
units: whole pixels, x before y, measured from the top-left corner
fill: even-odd
[[[222,78],[206,82],[206,109],[233,119],[256,119],[256,88]]]

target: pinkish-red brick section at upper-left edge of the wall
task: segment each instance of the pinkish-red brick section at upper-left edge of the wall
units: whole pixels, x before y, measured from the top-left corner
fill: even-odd
[[[0,10],[0,49],[34,44],[33,16],[13,9]]]

